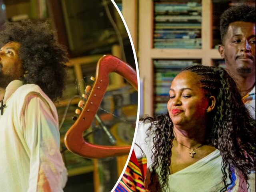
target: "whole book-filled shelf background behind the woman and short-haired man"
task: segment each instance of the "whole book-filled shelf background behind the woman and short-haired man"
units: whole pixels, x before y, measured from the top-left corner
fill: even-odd
[[[192,64],[225,67],[220,15],[255,0],[122,0],[140,72],[140,117],[167,112],[172,80]]]

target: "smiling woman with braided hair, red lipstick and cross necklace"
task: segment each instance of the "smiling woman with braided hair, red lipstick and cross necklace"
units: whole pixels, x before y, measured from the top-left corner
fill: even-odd
[[[255,191],[255,120],[228,73],[190,66],[172,81],[168,113],[140,120],[134,151],[150,191]]]

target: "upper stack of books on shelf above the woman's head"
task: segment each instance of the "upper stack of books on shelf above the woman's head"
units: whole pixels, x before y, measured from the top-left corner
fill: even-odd
[[[201,1],[154,1],[154,48],[201,48]]]

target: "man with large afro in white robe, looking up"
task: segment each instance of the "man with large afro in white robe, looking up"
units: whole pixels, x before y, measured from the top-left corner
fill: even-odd
[[[6,22],[0,32],[0,191],[61,192],[66,168],[58,115],[67,52],[47,22]]]

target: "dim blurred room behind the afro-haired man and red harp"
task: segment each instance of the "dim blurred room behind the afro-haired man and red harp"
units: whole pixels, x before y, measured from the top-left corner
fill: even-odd
[[[117,0],[122,11],[122,1]],[[65,192],[108,192],[118,180],[127,155],[101,159],[83,158],[69,152],[64,135],[74,124],[78,102],[96,64],[112,54],[136,70],[132,45],[122,19],[110,0],[0,0],[0,26],[5,21],[30,19],[47,21],[61,44],[68,48],[70,62],[66,90],[56,103],[59,116],[61,152],[68,182]],[[98,109],[105,128],[94,120],[84,138],[100,145],[131,145],[137,117],[138,92],[118,74],[110,74],[110,84]],[[110,137],[109,135],[112,135]]]

